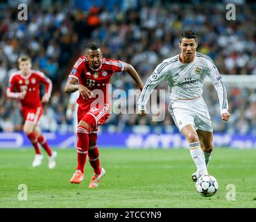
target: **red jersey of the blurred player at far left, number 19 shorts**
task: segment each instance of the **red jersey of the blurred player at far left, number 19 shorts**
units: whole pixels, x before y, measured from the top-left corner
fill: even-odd
[[[9,98],[17,99],[20,92],[26,91],[25,98],[21,100],[22,108],[37,108],[42,106],[40,83],[46,86],[45,93],[50,97],[52,90],[51,80],[41,71],[31,70],[28,76],[24,76],[21,71],[17,71],[10,76],[6,94]]]

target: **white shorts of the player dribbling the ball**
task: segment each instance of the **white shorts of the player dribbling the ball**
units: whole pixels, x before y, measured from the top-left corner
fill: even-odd
[[[190,124],[196,130],[213,131],[209,110],[201,96],[197,99],[171,101],[169,112],[180,131]]]

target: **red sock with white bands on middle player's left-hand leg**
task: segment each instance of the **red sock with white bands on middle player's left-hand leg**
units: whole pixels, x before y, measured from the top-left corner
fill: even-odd
[[[88,147],[89,147],[89,136],[88,136],[87,128],[83,126],[78,126],[76,132],[78,136],[78,142],[77,142],[78,166],[76,167],[76,170],[80,170],[83,173],[83,170],[85,168],[86,156],[88,153]]]

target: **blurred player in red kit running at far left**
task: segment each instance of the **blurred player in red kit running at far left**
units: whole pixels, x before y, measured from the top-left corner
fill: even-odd
[[[49,169],[56,167],[56,151],[51,151],[46,139],[37,126],[43,113],[42,103],[48,103],[51,96],[52,83],[49,78],[40,71],[31,69],[31,58],[22,56],[18,60],[19,71],[10,76],[6,94],[10,99],[19,99],[22,103],[22,114],[24,117],[24,133],[28,136],[35,148],[33,167],[42,163],[43,155],[38,143],[42,145],[49,155]],[[45,94],[40,100],[40,83],[46,86]],[[16,92],[15,92],[16,89]]]

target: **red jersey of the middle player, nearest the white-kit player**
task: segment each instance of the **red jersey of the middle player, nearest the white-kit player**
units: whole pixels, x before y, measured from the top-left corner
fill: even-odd
[[[80,108],[89,110],[90,106],[94,104],[94,101],[94,105],[104,105],[109,103],[108,89],[110,78],[114,72],[119,71],[123,71],[123,62],[119,60],[102,58],[99,69],[93,69],[92,67],[89,67],[89,62],[86,56],[80,57],[75,63],[69,77],[76,78],[79,84],[84,85],[94,94],[92,98],[87,100],[79,95],[76,102]]]

